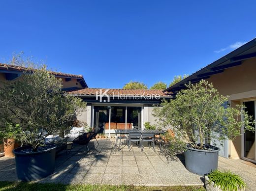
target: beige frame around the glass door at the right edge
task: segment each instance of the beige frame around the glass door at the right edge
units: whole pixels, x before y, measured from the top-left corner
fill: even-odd
[[[241,101],[241,106],[243,106],[244,105],[244,102],[252,102],[252,101],[254,101],[254,109],[255,109],[255,118],[256,118],[256,99],[250,99],[250,100],[242,100]],[[243,108],[241,108],[241,111],[242,111],[242,109]],[[241,121],[243,121],[244,120],[244,116],[243,115],[241,115]],[[255,128],[256,128],[256,124],[255,124]],[[244,134],[244,126],[242,126],[241,127],[241,158],[243,159],[243,160],[246,160],[246,161],[250,161],[250,162],[253,162],[253,163],[256,163],[256,146],[255,146],[255,153],[254,153],[254,159],[255,160],[253,160],[253,159],[249,159],[249,158],[246,158],[245,156],[244,156],[244,148],[245,148],[245,134]],[[255,141],[256,141],[256,134],[255,134]],[[256,143],[256,142],[255,142]]]

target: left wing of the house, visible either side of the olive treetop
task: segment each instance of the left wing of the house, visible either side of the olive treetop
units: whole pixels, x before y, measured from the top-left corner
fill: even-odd
[[[2,86],[3,82],[19,80],[22,73],[30,71],[32,70],[26,67],[0,63],[0,86]],[[82,75],[50,72],[56,78],[62,79],[63,90],[88,87]]]

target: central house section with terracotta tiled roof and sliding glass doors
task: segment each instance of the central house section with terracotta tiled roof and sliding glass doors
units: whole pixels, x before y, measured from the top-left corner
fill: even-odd
[[[173,98],[172,93],[148,89],[80,88],[67,93],[87,102],[87,110],[78,119],[109,136],[115,129],[144,129],[145,122],[154,124],[154,106]]]

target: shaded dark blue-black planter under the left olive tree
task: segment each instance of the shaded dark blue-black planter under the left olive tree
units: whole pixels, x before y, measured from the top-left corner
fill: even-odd
[[[46,150],[24,153],[30,147],[14,149],[16,171],[19,180],[34,181],[53,173],[55,168],[56,146],[48,146]]]

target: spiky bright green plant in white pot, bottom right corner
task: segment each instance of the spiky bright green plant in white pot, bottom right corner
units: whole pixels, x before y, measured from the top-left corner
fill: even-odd
[[[245,191],[243,179],[230,171],[214,170],[205,176],[207,191]]]

